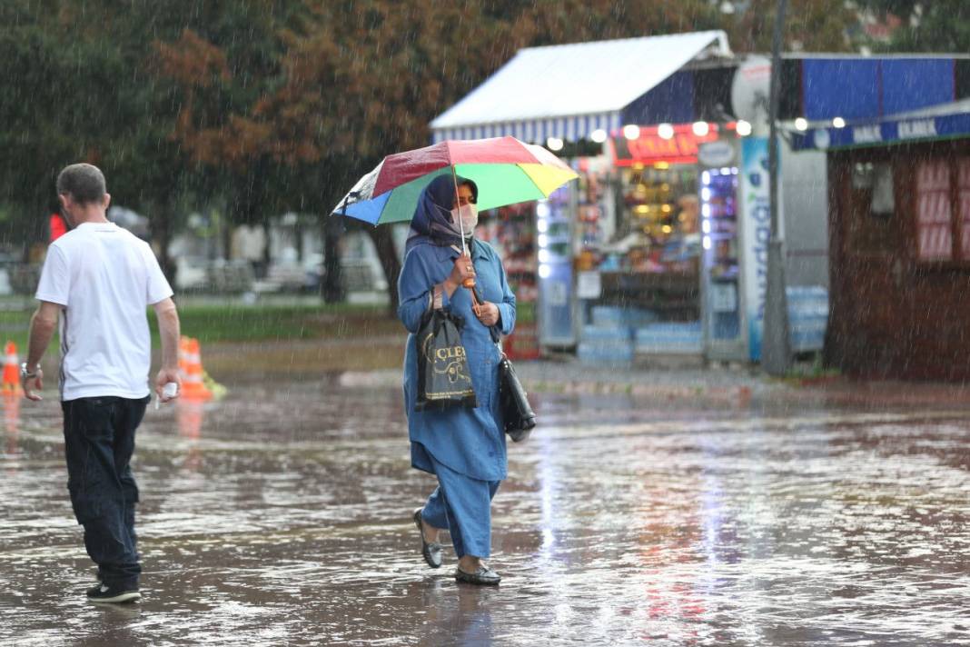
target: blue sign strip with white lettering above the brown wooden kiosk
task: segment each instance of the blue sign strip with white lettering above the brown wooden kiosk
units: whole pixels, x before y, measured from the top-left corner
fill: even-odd
[[[970,112],[867,123],[845,128],[817,128],[794,133],[795,150],[878,146],[914,140],[970,137]]]

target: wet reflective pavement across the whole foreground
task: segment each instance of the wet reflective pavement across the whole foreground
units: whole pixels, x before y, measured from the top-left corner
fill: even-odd
[[[108,608],[59,407],[4,400],[0,643],[970,644],[964,411],[539,398],[481,590],[420,558],[400,400],[328,379],[149,408],[145,598]]]

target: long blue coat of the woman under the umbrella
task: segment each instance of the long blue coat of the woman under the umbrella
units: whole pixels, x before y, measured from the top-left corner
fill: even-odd
[[[470,249],[478,293],[499,307],[502,335],[515,327],[515,295],[495,250],[473,241]],[[415,334],[421,315],[430,307],[434,287],[451,274],[459,253],[452,247],[418,243],[404,258],[398,280],[401,306],[398,316],[410,332],[404,353],[404,411],[411,440],[411,466],[435,473],[426,452],[439,463],[484,481],[505,478],[505,435],[499,408],[499,359],[501,354],[486,328],[471,311],[469,290],[459,287],[442,307],[465,319],[462,344],[469,358],[471,384],[478,399],[476,408],[414,410],[417,399],[417,344]]]

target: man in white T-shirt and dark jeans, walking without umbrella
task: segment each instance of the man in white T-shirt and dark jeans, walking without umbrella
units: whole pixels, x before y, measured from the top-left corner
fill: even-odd
[[[23,391],[41,400],[41,357],[60,317],[60,398],[68,490],[87,554],[98,565],[93,602],[142,595],[136,548],[138,486],[130,461],[135,430],[150,399],[151,341],[146,306],[154,307],[162,340],[159,399],[176,397],[178,312],[172,288],[151,248],[108,221],[111,202],[101,171],[72,164],[57,177],[57,195],[72,231],[51,243],[30,321]]]

